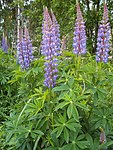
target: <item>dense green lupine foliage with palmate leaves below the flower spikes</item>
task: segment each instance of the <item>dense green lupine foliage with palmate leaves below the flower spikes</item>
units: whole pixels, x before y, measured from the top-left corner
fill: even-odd
[[[112,150],[112,60],[65,51],[52,89],[43,66],[40,57],[22,71],[0,51],[0,150]]]

